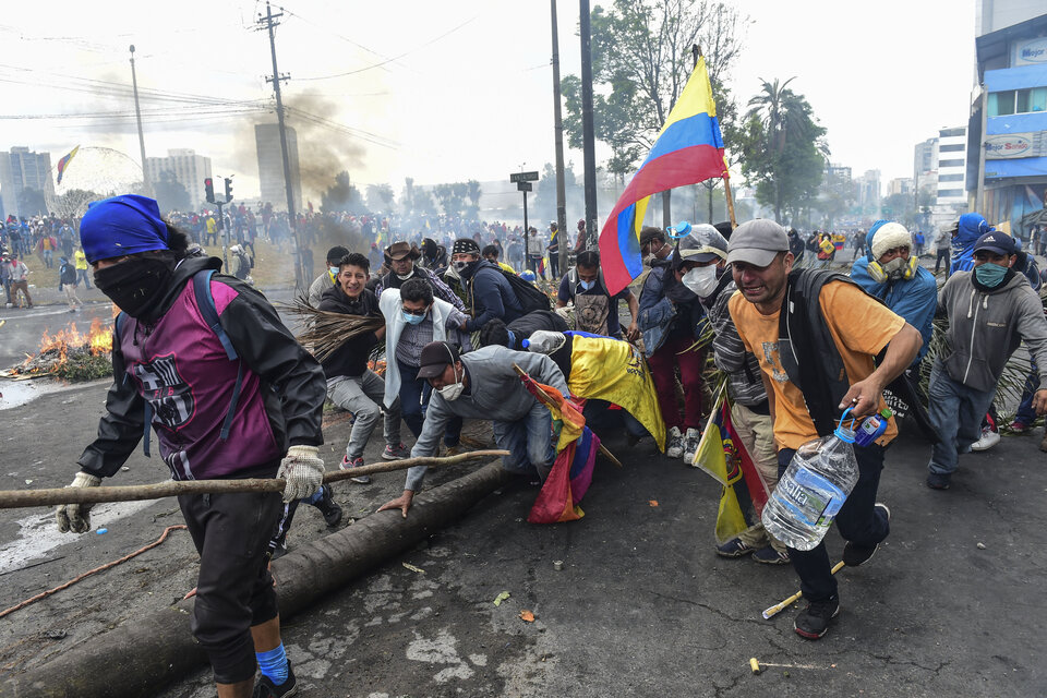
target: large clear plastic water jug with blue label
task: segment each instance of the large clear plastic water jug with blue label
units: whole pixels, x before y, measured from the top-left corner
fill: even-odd
[[[796,449],[763,506],[763,528],[790,547],[816,547],[858,481],[854,420],[844,424],[850,411],[844,411],[832,434]]]

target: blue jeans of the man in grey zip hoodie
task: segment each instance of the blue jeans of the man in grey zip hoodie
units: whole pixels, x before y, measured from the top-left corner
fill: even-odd
[[[955,471],[960,454],[968,453],[971,444],[982,438],[982,418],[995,395],[996,390],[975,390],[953,381],[941,362],[935,361],[928,416],[941,441],[931,448],[930,472],[947,476]]]

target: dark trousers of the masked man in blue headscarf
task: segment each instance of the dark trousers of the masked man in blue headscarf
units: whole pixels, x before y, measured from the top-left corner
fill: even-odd
[[[251,627],[277,616],[266,552],[282,513],[280,494],[183,495],[178,504],[200,553],[190,628],[216,683],[246,681],[257,665]]]

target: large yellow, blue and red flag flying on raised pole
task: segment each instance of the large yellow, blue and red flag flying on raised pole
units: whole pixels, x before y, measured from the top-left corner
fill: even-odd
[[[640,228],[651,194],[713,177],[726,178],[727,167],[702,57],[673,105],[658,141],[600,231],[600,266],[612,294],[642,272]]]

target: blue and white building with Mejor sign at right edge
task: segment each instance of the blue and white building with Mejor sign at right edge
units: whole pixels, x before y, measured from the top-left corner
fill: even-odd
[[[1026,240],[1035,226],[1047,226],[1044,10],[1043,2],[1023,0],[977,3],[975,48],[982,88],[971,109],[966,194],[989,222],[1009,226],[1011,234]]]

